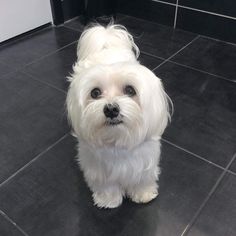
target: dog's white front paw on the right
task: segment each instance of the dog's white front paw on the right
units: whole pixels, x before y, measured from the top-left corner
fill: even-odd
[[[129,195],[133,202],[147,203],[158,196],[158,190],[156,186],[150,186],[149,188],[136,189]]]

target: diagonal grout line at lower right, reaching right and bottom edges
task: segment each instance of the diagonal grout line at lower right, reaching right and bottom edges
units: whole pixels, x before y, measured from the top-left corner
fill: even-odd
[[[236,154],[233,155],[232,159],[230,160],[230,162],[228,163],[228,165],[226,166],[225,170],[221,173],[220,177],[217,179],[216,183],[214,184],[214,186],[212,187],[212,189],[210,190],[210,192],[208,193],[207,197],[203,200],[202,204],[200,205],[200,207],[198,208],[197,212],[194,214],[194,216],[192,217],[192,219],[190,220],[190,222],[188,223],[188,225],[185,227],[185,229],[183,230],[181,236],[187,236],[187,233],[189,232],[190,228],[193,226],[194,222],[196,221],[197,217],[201,214],[203,208],[206,206],[207,202],[209,201],[209,199],[212,197],[212,195],[214,194],[215,190],[217,189],[217,187],[219,186],[221,180],[223,179],[223,177],[225,176],[225,174],[228,172],[228,168],[230,167],[230,165],[233,163],[233,161],[236,159]]]

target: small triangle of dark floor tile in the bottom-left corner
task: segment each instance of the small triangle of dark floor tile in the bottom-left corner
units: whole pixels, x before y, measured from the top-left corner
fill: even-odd
[[[10,223],[5,217],[0,214],[0,235],[1,236],[23,236],[15,225]]]

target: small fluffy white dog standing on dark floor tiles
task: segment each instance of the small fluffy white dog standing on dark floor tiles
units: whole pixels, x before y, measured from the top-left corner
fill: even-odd
[[[160,79],[137,61],[139,49],[121,25],[85,30],[77,56],[67,110],[94,204],[118,207],[124,196],[151,201],[158,195],[160,138],[170,119]]]

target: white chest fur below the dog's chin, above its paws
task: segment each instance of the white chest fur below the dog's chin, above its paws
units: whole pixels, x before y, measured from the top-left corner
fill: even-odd
[[[129,185],[138,183],[142,175],[155,173],[160,156],[159,141],[146,141],[132,150],[120,148],[94,148],[80,143],[78,160],[85,178],[92,176],[94,183],[120,182]],[[147,177],[147,176],[146,176]],[[151,177],[151,176],[150,176]],[[152,176],[153,177],[153,176]]]

